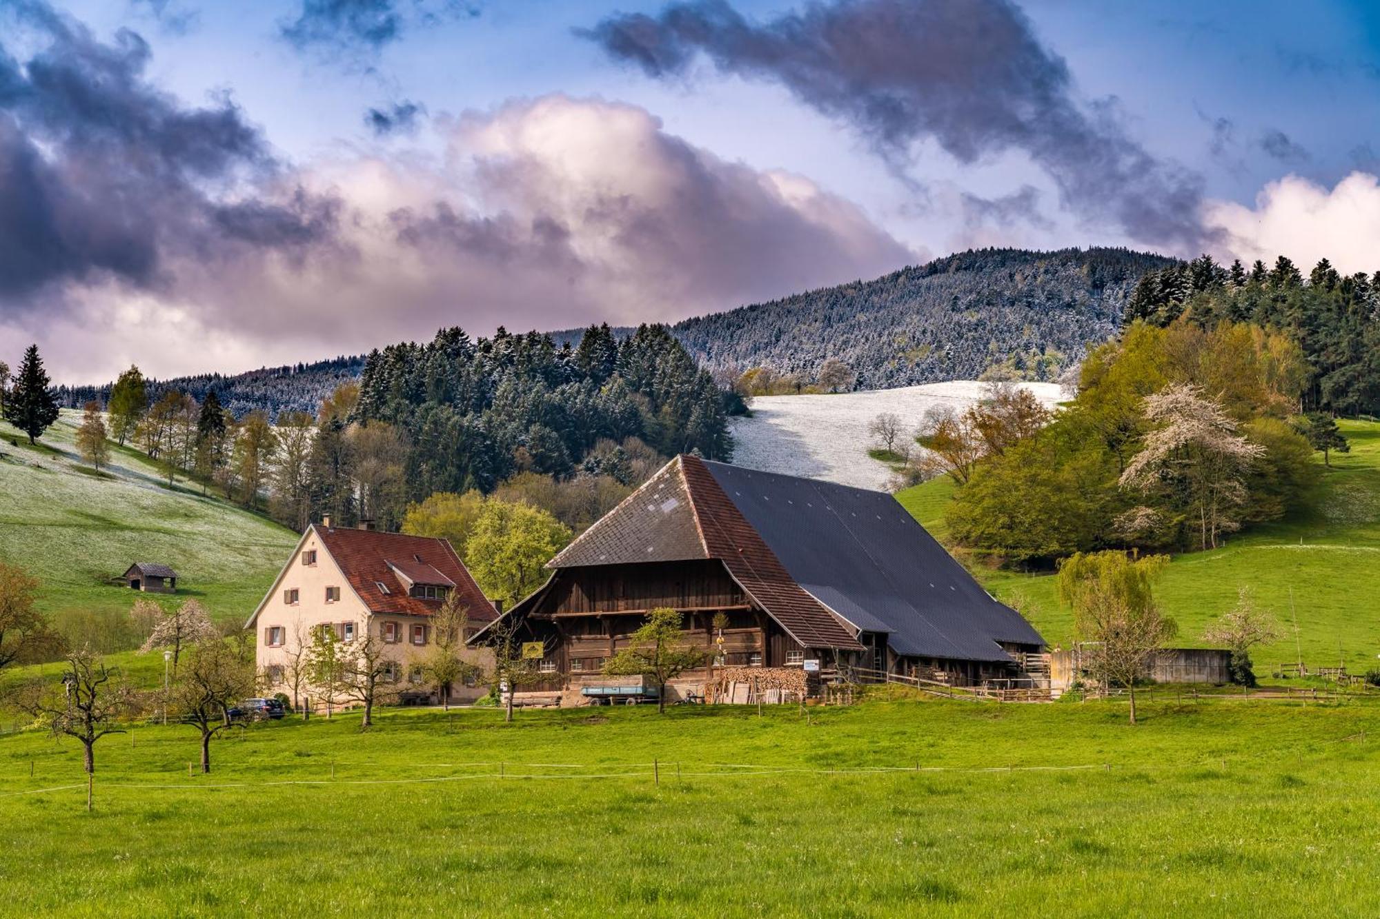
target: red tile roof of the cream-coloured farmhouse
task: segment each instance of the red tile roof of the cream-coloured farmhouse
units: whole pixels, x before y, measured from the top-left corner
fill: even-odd
[[[389,562],[407,577],[415,571],[421,575],[428,569],[431,578],[436,574],[447,578],[460,591],[461,602],[468,607],[469,621],[482,625],[494,620],[497,613],[484,597],[475,578],[465,570],[455,549],[446,540],[414,537],[402,533],[381,533],[378,530],[344,530],[315,526],[322,546],[331,553],[335,564],[345,573],[355,593],[364,600],[371,613],[392,613],[399,615],[431,615],[440,609],[440,600],[424,600],[410,596],[407,585],[393,573]],[[421,559],[418,562],[417,559]],[[437,584],[426,577],[415,578],[420,584]],[[378,589],[384,584],[388,593]],[[446,581],[439,581],[444,585]]]

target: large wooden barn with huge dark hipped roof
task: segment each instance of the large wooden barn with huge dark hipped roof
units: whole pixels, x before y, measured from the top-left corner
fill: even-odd
[[[849,665],[966,684],[1016,676],[1043,646],[891,495],[689,455],[548,567],[546,584],[500,621],[544,643],[541,671],[566,689],[599,682],[646,613],[665,606],[726,666]],[[686,675],[672,693],[705,676]]]

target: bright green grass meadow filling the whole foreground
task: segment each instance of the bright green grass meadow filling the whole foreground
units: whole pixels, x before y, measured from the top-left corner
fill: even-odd
[[[79,748],[25,731],[0,887],[19,915],[1373,915],[1380,708],[1143,713],[392,709],[253,726],[208,777],[192,729],[141,726],[98,745],[94,814]]]

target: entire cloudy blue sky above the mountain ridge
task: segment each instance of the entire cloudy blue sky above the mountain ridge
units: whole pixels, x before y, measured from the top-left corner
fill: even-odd
[[[236,373],[981,246],[1373,272],[1377,116],[1359,0],[0,0],[0,360]]]

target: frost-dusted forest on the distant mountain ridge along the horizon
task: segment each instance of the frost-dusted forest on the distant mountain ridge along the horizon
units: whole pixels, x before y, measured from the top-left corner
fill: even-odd
[[[1143,275],[1176,259],[1126,248],[1034,253],[972,250],[767,304],[682,320],[671,334],[705,367],[741,374],[767,367],[777,379],[813,382],[825,360],[853,371],[851,386],[889,389],[973,379],[994,368],[1054,379],[1090,345],[1121,327]],[[633,328],[614,328],[625,338]],[[551,333],[558,348],[584,330]],[[366,356],[149,381],[149,395],[215,391],[236,417],[250,411],[315,411],[341,382],[357,379]],[[108,402],[110,385],[59,386],[66,407]]]

